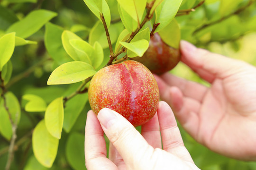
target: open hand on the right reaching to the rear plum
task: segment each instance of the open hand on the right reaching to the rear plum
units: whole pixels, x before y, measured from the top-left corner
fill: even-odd
[[[181,42],[182,62],[211,85],[165,73],[160,98],[199,143],[217,153],[256,160],[256,68]]]

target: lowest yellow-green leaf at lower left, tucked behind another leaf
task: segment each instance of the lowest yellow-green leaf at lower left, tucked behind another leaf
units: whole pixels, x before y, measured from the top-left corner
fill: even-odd
[[[32,135],[33,152],[37,161],[47,168],[52,167],[58,145],[59,140],[47,131],[45,120],[41,120]]]

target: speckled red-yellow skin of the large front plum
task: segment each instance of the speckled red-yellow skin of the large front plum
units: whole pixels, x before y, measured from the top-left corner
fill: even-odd
[[[109,108],[135,127],[153,118],[159,103],[155,77],[144,65],[132,60],[101,68],[91,79],[88,95],[95,114]]]

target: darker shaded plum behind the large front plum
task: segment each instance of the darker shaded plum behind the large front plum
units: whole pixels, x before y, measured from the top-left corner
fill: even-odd
[[[131,58],[145,65],[152,73],[161,75],[173,69],[181,60],[179,49],[168,46],[155,33],[149,41],[149,47],[142,57]]]

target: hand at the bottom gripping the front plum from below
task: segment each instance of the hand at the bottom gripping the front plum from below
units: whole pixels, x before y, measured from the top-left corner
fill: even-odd
[[[157,114],[142,126],[142,135],[113,110],[102,109],[98,119],[91,110],[88,112],[85,127],[88,170],[198,170],[167,103],[159,103]],[[109,159],[103,131],[111,142]],[[164,150],[160,149],[160,131]]]

